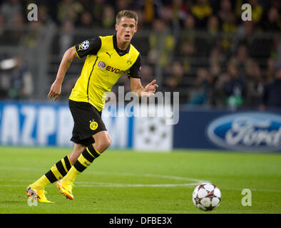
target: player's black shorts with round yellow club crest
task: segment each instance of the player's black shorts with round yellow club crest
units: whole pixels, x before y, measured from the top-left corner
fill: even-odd
[[[74,120],[71,141],[85,146],[95,142],[92,136],[106,130],[101,112],[87,102],[69,100],[68,105]]]

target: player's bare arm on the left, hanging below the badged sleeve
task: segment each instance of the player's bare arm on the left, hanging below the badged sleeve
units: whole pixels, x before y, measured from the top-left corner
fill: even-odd
[[[61,64],[58,68],[58,73],[56,75],[56,80],[53,82],[50,91],[48,92],[48,98],[53,98],[54,101],[58,99],[61,94],[61,85],[63,83],[63,78],[66,75],[66,71],[71,66],[71,62],[74,57],[78,57],[76,54],[75,47],[68,48],[68,50],[63,54]]]

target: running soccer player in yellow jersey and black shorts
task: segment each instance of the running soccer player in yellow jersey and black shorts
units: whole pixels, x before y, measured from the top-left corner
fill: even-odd
[[[51,170],[39,180],[29,185],[26,195],[39,202],[46,199],[45,187],[53,182],[68,199],[73,199],[73,182],[93,160],[111,145],[111,136],[101,119],[106,92],[128,73],[131,90],[138,96],[155,94],[158,85],[155,80],[143,88],[141,84],[141,54],[131,45],[131,39],[138,28],[138,16],[134,11],[123,10],[116,16],[116,35],[89,38],[63,55],[56,80],[48,93],[48,98],[57,100],[61,94],[61,84],[74,57],[86,56],[81,76],[76,81],[69,97],[68,105],[74,120],[74,149],[70,155],[56,162]]]

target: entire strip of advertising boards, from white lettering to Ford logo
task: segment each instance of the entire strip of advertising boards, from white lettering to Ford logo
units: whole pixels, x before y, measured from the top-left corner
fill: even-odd
[[[281,152],[281,111],[180,110],[176,125],[159,117],[106,114],[112,148]],[[66,103],[0,103],[0,145],[72,147],[72,129]]]

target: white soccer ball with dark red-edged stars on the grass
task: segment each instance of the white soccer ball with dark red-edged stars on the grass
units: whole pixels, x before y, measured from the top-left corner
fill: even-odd
[[[193,203],[198,209],[210,211],[220,205],[222,195],[217,186],[211,183],[202,183],[193,191]]]

